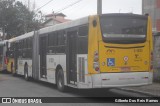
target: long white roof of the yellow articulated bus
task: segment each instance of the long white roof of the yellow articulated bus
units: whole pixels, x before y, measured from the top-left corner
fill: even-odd
[[[139,17],[142,16],[142,15],[129,14],[129,13],[102,14],[102,16],[107,16],[107,15],[109,15],[109,16],[115,16],[115,15],[118,15],[118,16],[121,16],[121,15],[122,16],[124,16],[124,15],[133,16],[134,15],[134,16],[139,16]],[[53,25],[53,26],[49,26],[49,27],[39,29],[38,33],[41,35],[41,34],[50,33],[50,32],[53,32],[53,31],[59,31],[59,30],[67,29],[67,28],[73,28],[73,27],[88,24],[88,23],[89,23],[89,17],[84,17],[84,18],[80,18],[80,19],[77,19],[77,20],[68,21],[68,22],[65,22],[65,23],[61,23],[61,24],[57,24],[57,25]],[[8,40],[8,42],[15,42],[15,41],[23,40],[23,39],[32,37],[33,35],[34,35],[34,31],[23,34],[23,35],[20,35],[20,36],[15,37],[15,38],[11,38],[11,39]]]

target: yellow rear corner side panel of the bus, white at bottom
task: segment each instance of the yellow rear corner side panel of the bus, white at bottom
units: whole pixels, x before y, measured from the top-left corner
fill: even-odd
[[[98,16],[90,16],[89,17],[89,37],[88,37],[88,74],[91,76],[92,87],[97,86],[101,87],[101,78],[100,78],[100,69],[98,71],[95,70],[95,66],[99,66],[99,60],[95,63],[94,58],[96,52],[99,51],[98,39],[100,34],[100,23]],[[98,54],[99,55],[99,54]],[[97,65],[94,65],[97,64]],[[99,76],[95,79],[94,76]],[[89,77],[88,77],[89,78]],[[100,86],[99,86],[100,85]]]

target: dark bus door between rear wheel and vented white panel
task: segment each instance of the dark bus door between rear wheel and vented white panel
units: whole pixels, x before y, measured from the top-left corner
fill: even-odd
[[[76,54],[77,54],[77,31],[67,33],[67,70],[68,83],[76,84],[77,82],[77,68],[76,68]]]

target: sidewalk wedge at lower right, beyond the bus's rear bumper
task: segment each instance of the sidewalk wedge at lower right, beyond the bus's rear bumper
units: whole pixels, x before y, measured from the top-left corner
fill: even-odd
[[[123,87],[122,90],[139,92],[147,94],[150,96],[159,96],[160,97],[160,83],[155,83],[151,85],[137,86],[137,87]]]

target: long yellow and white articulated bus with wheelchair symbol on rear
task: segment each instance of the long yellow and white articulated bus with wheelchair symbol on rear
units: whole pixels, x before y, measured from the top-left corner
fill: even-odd
[[[148,15],[103,14],[9,39],[14,73],[79,89],[152,83],[152,26]]]

